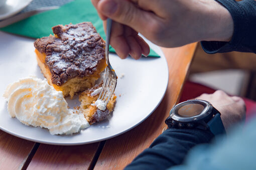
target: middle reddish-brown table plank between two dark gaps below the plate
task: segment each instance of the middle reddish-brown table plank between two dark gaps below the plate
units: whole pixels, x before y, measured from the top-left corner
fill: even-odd
[[[57,146],[40,144],[27,169],[88,169],[99,142]]]

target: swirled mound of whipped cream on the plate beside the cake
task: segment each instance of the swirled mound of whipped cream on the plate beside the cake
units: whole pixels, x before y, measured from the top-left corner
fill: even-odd
[[[45,127],[51,134],[72,134],[89,126],[82,113],[74,113],[62,91],[47,80],[28,77],[10,84],[4,95],[8,111],[26,125]]]

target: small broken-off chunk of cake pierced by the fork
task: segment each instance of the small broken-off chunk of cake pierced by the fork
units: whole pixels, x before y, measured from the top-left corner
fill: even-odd
[[[105,119],[113,111],[113,108],[114,108],[114,103],[116,99],[115,94],[111,96],[110,100],[106,105],[106,109],[103,111],[98,109],[93,104],[99,96],[101,85],[102,84],[99,84],[90,89],[87,89],[79,95],[79,100],[81,101],[80,109],[82,110],[86,120],[90,124],[93,124],[95,122],[99,122]]]

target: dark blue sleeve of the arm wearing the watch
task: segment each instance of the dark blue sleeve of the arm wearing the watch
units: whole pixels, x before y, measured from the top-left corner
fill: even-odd
[[[181,164],[192,147],[210,142],[212,138],[213,134],[208,130],[169,128],[126,166],[125,170],[161,170]]]

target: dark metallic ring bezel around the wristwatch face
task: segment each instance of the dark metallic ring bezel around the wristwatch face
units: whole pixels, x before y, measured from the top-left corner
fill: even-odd
[[[202,105],[205,105],[205,107],[200,114],[194,115],[191,117],[182,117],[177,114],[177,111],[181,106],[185,104],[191,104],[191,103],[202,104]],[[170,117],[173,120],[179,121],[179,122],[197,122],[202,119],[205,119],[205,117],[208,117],[210,114],[212,114],[212,109],[213,109],[213,106],[209,101],[201,100],[201,99],[187,100],[175,105],[170,111]]]

